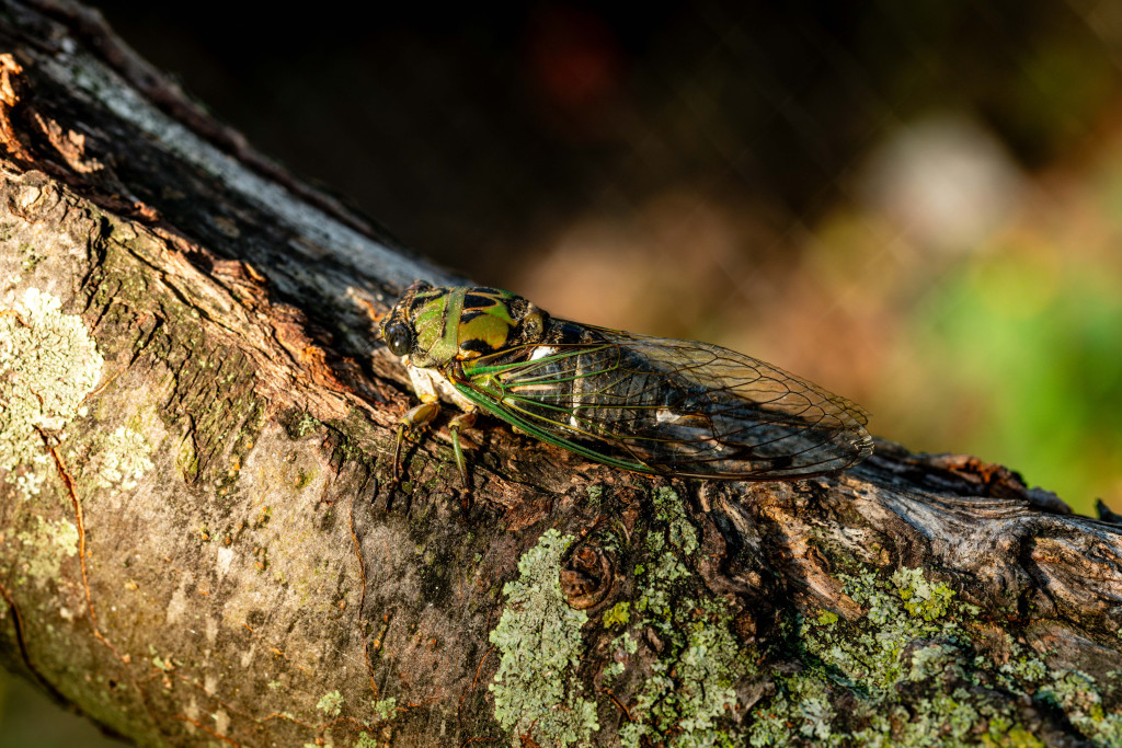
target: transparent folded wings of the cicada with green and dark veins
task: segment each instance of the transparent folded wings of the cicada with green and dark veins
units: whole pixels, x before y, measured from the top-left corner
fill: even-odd
[[[872,454],[864,410],[769,363],[707,343],[585,330],[582,342],[527,349],[522,361],[480,361],[493,387],[485,407],[591,459],[659,473],[806,478]]]

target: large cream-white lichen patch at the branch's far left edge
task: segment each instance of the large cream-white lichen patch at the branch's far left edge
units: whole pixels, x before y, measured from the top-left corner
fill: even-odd
[[[49,458],[39,430],[58,431],[101,378],[104,359],[82,318],[27,288],[0,310],[0,472],[25,498],[39,492]]]

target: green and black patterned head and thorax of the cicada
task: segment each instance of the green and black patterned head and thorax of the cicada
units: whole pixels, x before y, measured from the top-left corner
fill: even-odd
[[[417,280],[383,317],[381,336],[394,355],[439,369],[537,343],[548,324],[544,311],[508,290]]]

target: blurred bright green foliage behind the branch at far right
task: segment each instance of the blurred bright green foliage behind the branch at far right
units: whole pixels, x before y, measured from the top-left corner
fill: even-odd
[[[909,333],[927,391],[893,437],[1006,464],[1083,514],[1095,498],[1118,500],[1119,276],[1077,257],[1000,251],[939,285]]]

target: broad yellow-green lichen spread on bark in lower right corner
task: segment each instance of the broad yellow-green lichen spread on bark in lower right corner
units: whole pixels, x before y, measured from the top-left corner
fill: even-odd
[[[1122,745],[1122,720],[1104,713],[1102,686],[1093,678],[1049,673],[1033,650],[1012,639],[1003,664],[975,654],[966,621],[977,609],[955,602],[949,588],[922,571],[839,579],[865,616],[844,621],[824,611],[787,632],[806,667],[773,674],[775,695],[752,714],[753,746],[803,738],[824,746],[1038,748],[1041,741],[1018,722],[1008,693],[1050,703],[1092,745]],[[839,699],[845,714],[830,707]],[[850,720],[862,729],[849,731]]]

